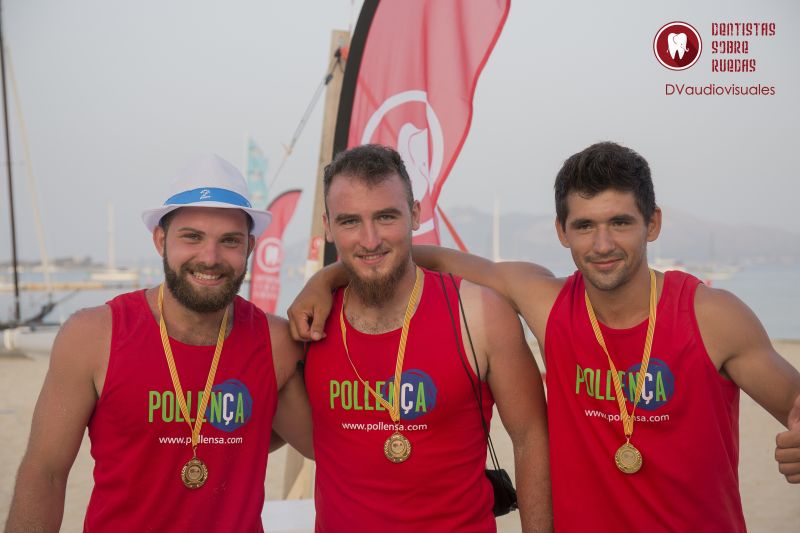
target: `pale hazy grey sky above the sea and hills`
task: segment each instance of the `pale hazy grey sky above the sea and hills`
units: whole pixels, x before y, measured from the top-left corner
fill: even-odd
[[[112,203],[117,263],[129,266],[157,264],[140,213],[163,202],[193,157],[214,152],[241,168],[250,135],[272,178],[325,73],[331,31],[350,29],[358,9],[350,0],[2,4],[30,153],[9,90],[18,255],[39,256],[30,168],[51,257],[104,260]],[[685,71],[667,70],[653,53],[656,32],[671,21],[692,24],[703,39]],[[774,22],[776,31],[715,37],[719,22]],[[747,40],[749,54],[713,54],[712,41],[723,39]],[[794,0],[512,1],[440,203],[490,212],[496,196],[503,212],[554,214],[552,181],[564,159],[614,140],[650,162],[661,205],[800,239],[798,50]],[[726,57],[755,59],[756,71],[712,72],[712,60]],[[775,94],[667,95],[667,84],[760,84]],[[304,190],[287,241],[310,231],[321,125],[320,102],[272,191]],[[7,261],[5,170],[0,176]]]

